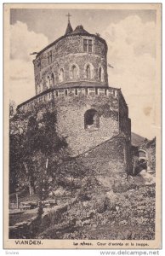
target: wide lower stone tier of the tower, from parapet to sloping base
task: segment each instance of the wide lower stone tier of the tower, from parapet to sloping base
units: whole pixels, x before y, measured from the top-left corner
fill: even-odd
[[[39,114],[42,114],[44,104],[50,104],[50,109],[57,111],[57,131],[66,138],[73,156],[80,155],[87,167],[100,174],[129,172],[130,141],[124,130],[119,129],[121,92],[99,88],[97,93],[96,88],[88,88],[88,91],[86,88],[69,88],[66,96],[65,89],[53,90],[20,106],[20,111],[22,109],[28,113],[36,106],[41,106]],[[124,102],[122,106],[124,108]],[[84,114],[88,109],[98,113],[99,128],[85,129]],[[129,122],[127,115],[125,119],[125,122]]]

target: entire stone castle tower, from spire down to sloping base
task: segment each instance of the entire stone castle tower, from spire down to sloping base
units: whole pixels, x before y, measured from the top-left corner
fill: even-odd
[[[131,120],[122,91],[108,84],[107,50],[99,34],[73,30],[68,20],[65,35],[37,53],[36,96],[17,109],[52,102],[74,156],[98,172],[130,172]]]

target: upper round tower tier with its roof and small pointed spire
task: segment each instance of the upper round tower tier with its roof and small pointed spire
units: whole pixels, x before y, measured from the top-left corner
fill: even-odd
[[[80,82],[84,86],[107,87],[106,54],[103,38],[88,33],[83,26],[72,31],[69,21],[65,35],[41,50],[33,61],[36,95]]]

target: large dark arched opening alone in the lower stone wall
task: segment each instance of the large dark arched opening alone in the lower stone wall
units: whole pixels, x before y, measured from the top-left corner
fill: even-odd
[[[94,129],[100,127],[99,114],[95,109],[88,109],[84,114],[84,128]]]

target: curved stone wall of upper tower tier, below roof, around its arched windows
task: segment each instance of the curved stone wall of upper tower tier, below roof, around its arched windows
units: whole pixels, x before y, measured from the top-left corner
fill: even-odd
[[[83,51],[83,38],[93,40],[92,53]],[[48,63],[48,53],[52,51],[52,61]],[[71,36],[62,38],[50,48],[45,49],[41,55],[33,61],[35,73],[36,92],[38,86],[43,83],[42,90],[48,90],[47,78],[54,74],[54,84],[60,84],[60,69],[64,70],[64,82],[74,81],[71,78],[71,67],[77,66],[77,81],[87,80],[85,67],[91,66],[91,81],[99,80],[99,68],[102,67],[102,84],[108,83],[107,63],[106,63],[106,45],[95,37]],[[100,83],[101,84],[101,83]]]

